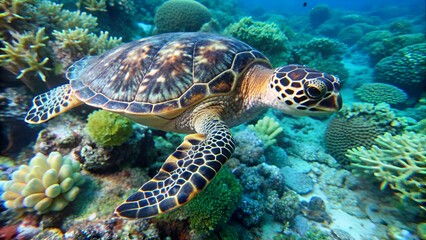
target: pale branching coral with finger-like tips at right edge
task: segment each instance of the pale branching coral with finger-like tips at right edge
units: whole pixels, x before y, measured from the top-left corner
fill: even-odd
[[[347,151],[355,171],[374,175],[401,198],[426,203],[426,136],[414,132],[392,136],[385,133],[367,150],[357,147]]]

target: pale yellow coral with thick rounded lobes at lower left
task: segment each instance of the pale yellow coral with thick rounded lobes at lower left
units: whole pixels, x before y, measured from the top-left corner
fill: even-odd
[[[4,206],[37,214],[63,210],[76,199],[84,182],[80,163],[58,152],[48,157],[37,153],[11,176],[3,187]]]

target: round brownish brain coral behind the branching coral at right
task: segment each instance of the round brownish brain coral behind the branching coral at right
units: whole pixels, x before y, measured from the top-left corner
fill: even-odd
[[[344,106],[327,126],[325,146],[337,161],[348,164],[348,149],[371,147],[377,136],[385,132],[395,133],[400,124],[388,104],[363,103]]]

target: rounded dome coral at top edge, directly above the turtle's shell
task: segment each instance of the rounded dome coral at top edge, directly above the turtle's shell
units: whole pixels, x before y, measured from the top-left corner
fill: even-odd
[[[210,21],[209,10],[193,0],[170,0],[163,3],[155,14],[158,33],[195,32]]]

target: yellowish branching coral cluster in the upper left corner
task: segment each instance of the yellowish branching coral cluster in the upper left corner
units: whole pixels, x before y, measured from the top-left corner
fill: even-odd
[[[88,34],[96,31],[97,18],[85,12],[63,9],[63,4],[51,1],[7,0],[2,1],[0,9],[4,12],[0,15],[0,36],[3,45],[0,48],[0,66],[16,75],[16,78],[32,91],[44,90],[46,85],[53,87],[65,81],[64,69],[75,61],[76,57],[89,54],[89,51],[85,52],[83,48],[79,49],[82,51],[79,54],[67,56],[71,52],[60,47],[66,48],[63,41],[70,39],[61,38],[60,33],[86,33],[87,36],[78,35],[79,39],[74,37],[72,40],[90,41],[92,47],[94,44],[100,44],[102,47],[93,54],[99,54],[121,41],[108,38],[105,32],[100,36]],[[84,31],[75,30],[77,28]],[[59,32],[56,33],[56,38],[54,31]],[[60,49],[55,50],[58,47]]]

